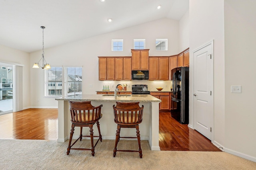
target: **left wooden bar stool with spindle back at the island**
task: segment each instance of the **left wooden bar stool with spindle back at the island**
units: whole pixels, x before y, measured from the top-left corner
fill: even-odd
[[[69,101],[70,104],[70,113],[71,113],[71,130],[70,130],[70,138],[69,138],[69,143],[68,143],[68,149],[67,149],[67,155],[69,154],[70,150],[91,150],[92,151],[92,156],[94,156],[94,147],[97,145],[98,141],[100,140],[102,142],[102,136],[100,134],[100,123],[99,120],[102,117],[101,114],[101,107],[103,105],[94,107],[91,105],[91,101],[86,101],[86,102],[72,102]],[[94,136],[93,135],[93,125],[97,124],[98,131],[99,131],[99,136]],[[91,138],[91,145],[92,147],[90,149],[87,148],[72,148],[72,146],[78,141],[74,141],[74,143],[71,145],[72,137],[74,134],[74,127],[80,127],[80,136],[78,139],[82,141],[82,137],[90,137]],[[82,135],[82,128],[83,127],[89,127],[90,128],[90,136],[83,136]],[[93,139],[94,137],[98,137],[98,140],[96,144],[94,145]]]

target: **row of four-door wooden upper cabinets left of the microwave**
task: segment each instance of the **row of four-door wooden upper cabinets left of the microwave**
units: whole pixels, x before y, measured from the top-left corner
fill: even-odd
[[[131,80],[131,57],[99,57],[99,80]]]

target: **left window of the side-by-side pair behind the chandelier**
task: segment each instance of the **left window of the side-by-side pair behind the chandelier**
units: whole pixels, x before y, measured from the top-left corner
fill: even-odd
[[[62,67],[52,67],[44,72],[44,96],[62,96]]]

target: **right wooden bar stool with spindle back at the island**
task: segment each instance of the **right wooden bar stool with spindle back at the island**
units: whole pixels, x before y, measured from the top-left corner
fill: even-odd
[[[139,152],[140,158],[142,158],[142,150],[140,147],[140,131],[139,124],[142,122],[143,108],[139,106],[140,102],[116,102],[114,109],[114,121],[117,123],[116,129],[116,142],[114,147],[113,156],[116,156],[116,152]],[[137,137],[120,137],[121,128],[136,128]],[[137,138],[138,150],[117,150],[117,144],[120,138]]]

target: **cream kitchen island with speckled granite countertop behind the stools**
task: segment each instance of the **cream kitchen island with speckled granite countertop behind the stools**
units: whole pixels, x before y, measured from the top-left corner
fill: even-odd
[[[111,94],[83,94],[82,96],[70,96],[56,98],[58,101],[58,142],[69,139],[71,129],[71,116],[68,101],[91,101],[92,106],[103,105],[102,118],[100,119],[100,132],[102,139],[116,139],[116,123],[114,122],[113,105],[118,102],[140,102],[144,105],[143,120],[140,123],[140,138],[148,140],[151,150],[160,150],[159,147],[159,103],[161,100],[151,95],[118,95]],[[78,138],[80,129],[74,131],[74,138]],[[89,135],[89,130],[84,128],[83,135]],[[94,127],[94,135],[98,135],[98,130]],[[134,129],[123,129],[122,136],[136,136]],[[102,141],[103,142],[103,141]]]

